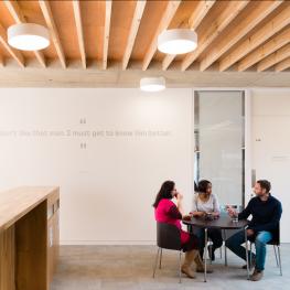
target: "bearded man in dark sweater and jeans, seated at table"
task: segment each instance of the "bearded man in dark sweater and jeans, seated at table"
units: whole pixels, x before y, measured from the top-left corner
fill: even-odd
[[[247,207],[237,214],[233,208],[228,208],[230,216],[246,219],[249,215],[253,219],[247,228],[248,239],[255,243],[256,255],[253,255],[255,270],[250,277],[251,281],[259,281],[262,278],[266,260],[266,245],[275,236],[282,214],[281,203],[270,194],[271,184],[267,180],[256,182],[253,197]],[[245,243],[245,233],[240,230],[226,240],[226,247],[238,257],[246,260],[246,249],[241,246]],[[244,266],[244,268],[246,268]]]

